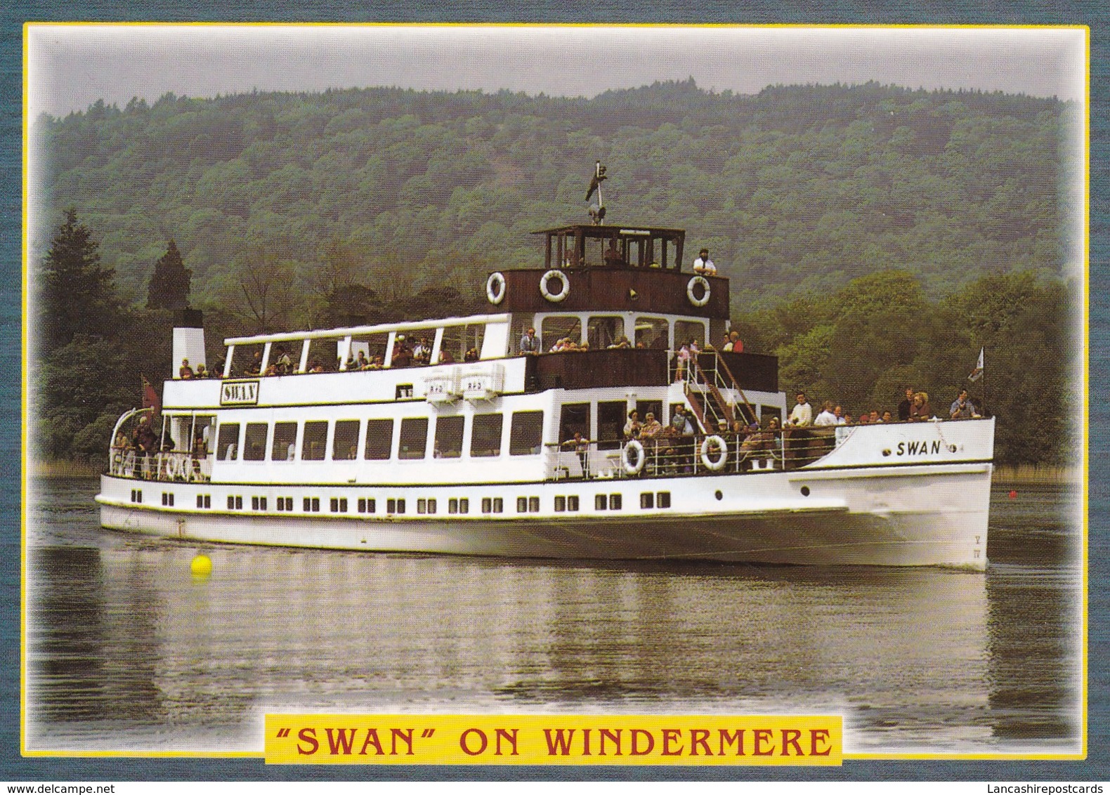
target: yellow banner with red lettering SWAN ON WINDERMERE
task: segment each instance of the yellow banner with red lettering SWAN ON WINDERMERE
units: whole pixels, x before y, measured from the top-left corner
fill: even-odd
[[[268,764],[839,765],[840,716],[266,715]]]

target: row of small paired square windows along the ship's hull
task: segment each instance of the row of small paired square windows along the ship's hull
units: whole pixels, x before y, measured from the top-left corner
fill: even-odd
[[[141,503],[142,502],[142,490],[132,489],[131,490],[131,502]],[[620,494],[597,494],[594,496],[594,510],[596,511],[619,511],[623,506],[624,499]],[[251,510],[252,511],[265,511],[266,510],[266,497],[264,496],[251,496]],[[162,492],[162,505],[172,506],[173,505],[173,493]],[[377,501],[374,497],[359,497],[356,503],[359,513],[376,513],[377,512]],[[385,501],[385,512],[386,513],[404,513],[405,512],[405,501],[404,499],[391,497]],[[577,511],[579,506],[577,494],[561,494],[555,497],[555,512],[564,513],[566,511]],[[670,492],[640,492],[639,495],[639,506],[642,509],[649,507],[670,507]],[[198,494],[196,495],[196,507],[199,509],[211,509],[212,507],[212,495],[211,494]],[[278,511],[289,512],[293,510],[293,497],[291,496],[280,496],[278,497]],[[436,513],[437,502],[435,497],[421,497],[416,501],[416,513],[417,514],[434,514]],[[346,497],[331,497],[329,501],[329,509],[331,513],[347,513],[347,499]],[[243,510],[243,497],[242,495],[228,495],[228,510],[229,511],[242,511]],[[303,513],[320,513],[320,497],[304,497],[301,503],[301,510]],[[470,513],[471,501],[467,497],[451,497],[447,500],[447,513],[448,514],[465,514]],[[505,503],[502,497],[482,497],[482,513],[504,513]],[[539,513],[539,497],[538,496],[519,496],[516,499],[516,512],[517,513]]]

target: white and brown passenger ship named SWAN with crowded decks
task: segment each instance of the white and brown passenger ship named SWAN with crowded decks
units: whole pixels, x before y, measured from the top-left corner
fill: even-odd
[[[707,344],[729,326],[728,280],[683,268],[682,230],[596,221],[537,232],[544,268],[491,273],[487,314],[226,340],[216,378],[165,381],[148,431],[162,452],[113,446],[102,525],[375,552],[986,567],[993,420],[745,444],[722,422],[766,426],[787,405],[774,356]],[[205,361],[191,314],[174,362]],[[519,350],[528,328],[543,352]],[[549,352],[566,339],[577,350]],[[666,426],[677,406],[694,436],[625,437],[632,410]],[[144,416],[124,414],[113,440]]]

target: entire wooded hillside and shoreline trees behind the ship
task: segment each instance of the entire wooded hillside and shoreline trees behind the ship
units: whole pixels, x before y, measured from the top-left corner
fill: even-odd
[[[65,220],[32,230],[53,238],[36,280],[36,443],[93,455],[139,375],[170,372],[170,313],[125,309],[143,299],[203,309],[213,345],[481,311],[488,271],[541,261],[531,231],[585,221],[596,158],[609,222],[685,228],[687,251],[713,250],[734,326],[780,356],[785,390],[858,412],[894,409],[910,383],[940,412],[986,346],[973,391],[986,384],[1000,417],[999,459],[1064,461],[1079,400],[1060,281],[1071,112],[1001,93],[748,97],[685,81],[593,100],[167,94],[44,117],[38,217]]]

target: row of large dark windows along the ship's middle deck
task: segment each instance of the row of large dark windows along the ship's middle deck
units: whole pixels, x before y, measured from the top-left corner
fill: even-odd
[[[216,457],[221,461],[387,461],[418,460],[431,453],[437,459],[461,457],[466,437],[463,415],[436,417],[428,433],[430,417],[405,417],[396,423],[384,420],[310,420],[306,422],[221,423],[216,435]],[[398,425],[396,440],[394,426]],[[513,412],[508,423],[508,454],[534,455],[543,443],[544,413]],[[497,412],[474,414],[470,422],[471,457],[492,457],[504,449],[505,416]],[[360,439],[362,445],[360,446]]]

